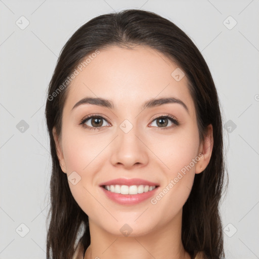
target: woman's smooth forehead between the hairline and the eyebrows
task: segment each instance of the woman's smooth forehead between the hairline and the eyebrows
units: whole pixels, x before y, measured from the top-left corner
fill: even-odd
[[[115,108],[133,108],[152,98],[174,97],[193,108],[187,77],[175,77],[179,72],[182,77],[183,71],[164,54],[146,46],[111,46],[99,51],[69,85],[65,105],[70,109],[85,97],[113,100]]]

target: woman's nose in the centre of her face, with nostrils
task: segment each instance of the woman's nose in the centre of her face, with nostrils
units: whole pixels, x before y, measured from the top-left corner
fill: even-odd
[[[112,144],[111,163],[126,169],[145,166],[149,160],[148,143],[145,142],[145,138],[137,132],[136,127],[133,126],[128,133],[119,128],[118,136]]]

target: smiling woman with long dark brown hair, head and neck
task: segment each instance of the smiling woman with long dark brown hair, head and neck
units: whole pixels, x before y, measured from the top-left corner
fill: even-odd
[[[224,258],[220,105],[180,28],[141,10],[92,19],[47,99],[48,258]]]

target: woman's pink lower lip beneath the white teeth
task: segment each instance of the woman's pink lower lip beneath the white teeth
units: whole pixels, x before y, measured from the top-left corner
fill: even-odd
[[[152,191],[138,193],[138,194],[120,194],[120,193],[107,191],[103,187],[101,188],[103,189],[104,193],[109,199],[121,205],[134,205],[152,197],[159,187],[156,187]]]

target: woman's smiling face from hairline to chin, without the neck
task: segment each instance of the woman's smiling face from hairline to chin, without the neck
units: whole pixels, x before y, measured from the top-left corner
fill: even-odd
[[[128,228],[142,235],[180,219],[195,173],[208,163],[182,76],[151,48],[109,47],[69,85],[56,141],[61,168],[89,220],[111,234]],[[110,106],[78,103],[97,97]],[[162,98],[167,102],[147,103]]]

